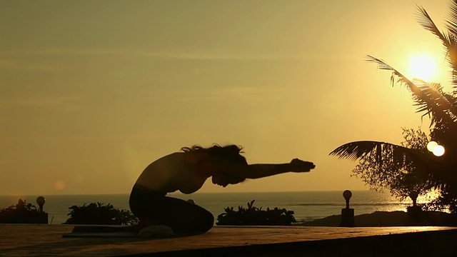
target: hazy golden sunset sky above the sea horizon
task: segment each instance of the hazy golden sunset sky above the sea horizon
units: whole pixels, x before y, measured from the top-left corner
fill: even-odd
[[[366,190],[328,153],[428,120],[365,56],[404,74],[432,56],[448,85],[416,4],[444,29],[445,0],[0,0],[0,195],[129,193],[152,161],[212,143],[316,168],[201,192]]]

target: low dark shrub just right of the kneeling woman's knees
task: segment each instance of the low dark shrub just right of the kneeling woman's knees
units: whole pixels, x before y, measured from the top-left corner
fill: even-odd
[[[238,206],[238,211],[233,211],[233,207],[225,208],[225,213],[219,214],[216,225],[269,225],[269,226],[290,226],[296,222],[293,217],[293,211],[287,211],[285,208],[266,208],[262,210],[253,206],[255,200],[248,203],[248,208]]]

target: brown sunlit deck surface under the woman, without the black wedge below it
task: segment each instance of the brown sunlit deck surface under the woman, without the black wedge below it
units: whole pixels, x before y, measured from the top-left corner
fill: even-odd
[[[326,241],[423,231],[457,231],[452,227],[233,227],[182,238],[62,238],[71,225],[0,224],[0,256],[122,256],[206,248]]]

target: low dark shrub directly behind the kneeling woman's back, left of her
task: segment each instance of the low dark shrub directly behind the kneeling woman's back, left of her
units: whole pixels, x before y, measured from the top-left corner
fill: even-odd
[[[98,225],[134,225],[138,218],[131,211],[119,210],[110,203],[89,203],[86,206],[71,206],[70,216],[64,224],[98,224]]]

